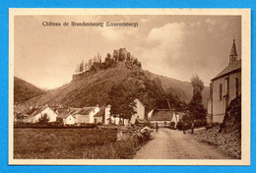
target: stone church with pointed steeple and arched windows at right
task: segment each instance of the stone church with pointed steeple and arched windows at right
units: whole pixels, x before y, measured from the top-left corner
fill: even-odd
[[[225,108],[232,99],[241,94],[241,58],[237,57],[233,40],[229,64],[210,84],[208,123],[223,123]]]

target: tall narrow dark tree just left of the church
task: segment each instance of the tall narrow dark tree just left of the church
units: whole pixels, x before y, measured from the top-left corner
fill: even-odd
[[[205,119],[206,118],[206,109],[202,104],[202,91],[204,89],[204,83],[196,75],[191,79],[191,85],[193,87],[193,97],[188,104],[188,110],[192,119]]]

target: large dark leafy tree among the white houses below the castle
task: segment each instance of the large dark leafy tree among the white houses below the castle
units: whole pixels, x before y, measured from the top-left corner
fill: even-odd
[[[135,96],[122,83],[111,87],[109,91],[109,104],[111,105],[110,114],[112,116],[119,116],[123,119],[131,119],[136,110],[134,107]]]

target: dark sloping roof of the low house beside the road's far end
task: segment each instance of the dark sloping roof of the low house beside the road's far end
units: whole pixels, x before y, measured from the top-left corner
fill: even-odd
[[[150,121],[171,121],[174,110],[171,109],[155,109]]]

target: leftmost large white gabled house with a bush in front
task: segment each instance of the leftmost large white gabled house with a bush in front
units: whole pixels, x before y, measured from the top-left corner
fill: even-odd
[[[23,122],[37,123],[39,118],[44,115],[47,116],[49,120],[48,122],[55,122],[58,116],[58,114],[49,106],[32,107],[32,109],[23,114],[23,116],[26,117]]]

